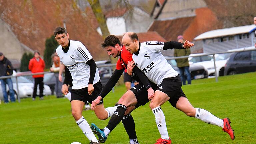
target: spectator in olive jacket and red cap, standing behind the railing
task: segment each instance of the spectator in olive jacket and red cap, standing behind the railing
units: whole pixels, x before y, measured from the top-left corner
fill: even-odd
[[[178,39],[178,42],[181,42],[181,43],[185,42],[182,35],[179,35],[177,39]],[[190,55],[190,49],[174,49],[174,57],[188,56],[188,55]],[[186,79],[188,81],[188,84],[191,84],[188,58],[176,59],[176,62],[177,62],[177,67],[180,70],[180,76],[181,76],[183,85],[186,85]]]

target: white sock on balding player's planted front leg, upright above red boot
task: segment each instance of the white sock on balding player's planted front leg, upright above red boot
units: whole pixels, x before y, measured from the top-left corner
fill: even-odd
[[[152,109],[152,112],[154,113],[156,117],[156,125],[158,128],[159,133],[161,134],[162,139],[169,139],[168,131],[166,128],[165,123],[165,116],[160,106]]]

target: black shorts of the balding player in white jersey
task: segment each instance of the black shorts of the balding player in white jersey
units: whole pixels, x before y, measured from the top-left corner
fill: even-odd
[[[165,78],[162,83],[159,85],[157,90],[167,94],[170,99],[168,100],[173,107],[176,108],[176,103],[180,97],[186,97],[184,92],[181,89],[182,81],[180,75],[173,78]]]

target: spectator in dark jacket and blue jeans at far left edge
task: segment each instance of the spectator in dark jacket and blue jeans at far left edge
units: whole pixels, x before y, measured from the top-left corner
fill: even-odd
[[[13,73],[13,67],[11,62],[6,57],[4,57],[4,54],[2,52],[0,52],[0,76],[9,76],[9,75],[12,75],[12,73]],[[6,92],[6,84],[9,87],[10,100],[11,102],[15,102],[12,79],[11,78],[0,79],[0,82],[1,82],[3,96],[4,96],[4,103],[9,103],[8,94]]]

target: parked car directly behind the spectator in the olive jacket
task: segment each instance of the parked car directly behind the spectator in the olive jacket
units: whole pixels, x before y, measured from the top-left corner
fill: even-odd
[[[172,58],[170,56],[165,56],[165,58]],[[174,70],[176,70],[178,73],[180,73],[179,68],[177,67],[177,63],[175,59],[169,59],[167,62],[172,66]],[[191,75],[191,79],[201,79],[201,78],[207,78],[208,73],[204,69],[203,66],[198,64],[190,64],[189,65],[189,71]]]

